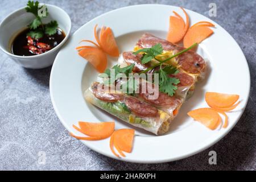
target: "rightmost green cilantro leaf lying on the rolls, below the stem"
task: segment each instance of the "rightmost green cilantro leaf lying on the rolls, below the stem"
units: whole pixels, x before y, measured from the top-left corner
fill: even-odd
[[[159,70],[159,90],[160,92],[167,93],[169,96],[174,96],[177,84],[180,80],[168,76],[168,73],[164,69]]]

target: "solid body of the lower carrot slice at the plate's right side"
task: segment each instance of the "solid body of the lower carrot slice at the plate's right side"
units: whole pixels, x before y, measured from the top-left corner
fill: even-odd
[[[220,122],[220,115],[218,114],[218,112],[210,108],[195,109],[189,111],[187,114],[196,121],[201,122],[203,125],[211,130],[216,129],[218,123]]]

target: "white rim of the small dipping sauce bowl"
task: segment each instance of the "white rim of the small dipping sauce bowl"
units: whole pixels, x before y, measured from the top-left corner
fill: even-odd
[[[56,47],[52,48],[51,50],[49,50],[49,51],[47,51],[47,52],[41,53],[40,55],[33,55],[33,56],[19,56],[19,55],[14,55],[13,53],[7,51],[6,48],[4,48],[4,47],[2,47],[2,46],[0,45],[0,49],[1,49],[3,52],[5,52],[7,55],[9,55],[9,56],[11,56],[11,57],[15,57],[15,58],[18,58],[18,59],[24,59],[24,60],[26,60],[26,59],[34,59],[34,58],[42,57],[42,56],[44,56],[44,55],[49,55],[49,54],[51,54],[52,52],[56,51],[56,49],[58,49],[58,48],[60,48],[61,46],[63,46],[63,44],[67,41],[67,39],[68,39],[68,37],[69,37],[69,35],[70,35],[70,33],[71,33],[71,27],[72,27],[71,18],[70,18],[70,16],[68,15],[68,13],[67,13],[65,10],[61,9],[61,8],[58,7],[58,6],[49,5],[49,4],[46,4],[46,3],[44,3],[44,5],[46,5],[46,6],[48,6],[48,7],[53,7],[53,8],[55,8],[55,9],[60,10],[60,11],[63,11],[63,13],[68,16],[68,19],[66,19],[66,21],[68,21],[68,24],[69,24],[70,26],[69,26],[67,32],[65,32],[65,38],[60,42],[60,44],[58,44]],[[11,15],[14,15],[14,14],[18,13],[19,11],[24,10],[25,7],[26,7],[26,6],[21,7],[21,8],[19,8],[18,10],[15,10],[15,11],[13,11],[12,13],[10,13],[9,15],[7,15],[7,16],[2,20],[2,22],[0,22],[0,28],[2,27],[2,24],[6,21],[6,19],[10,18]],[[20,27],[20,30],[21,30],[21,28],[22,28],[22,27]],[[17,30],[17,31],[18,31],[18,30]]]

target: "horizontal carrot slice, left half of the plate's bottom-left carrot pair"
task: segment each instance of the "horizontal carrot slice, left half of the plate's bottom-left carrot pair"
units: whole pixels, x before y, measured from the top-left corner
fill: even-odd
[[[77,137],[71,134],[72,137],[82,140],[100,140],[108,138],[114,132],[115,123],[114,122],[100,122],[100,123],[90,123],[90,122],[79,122],[79,127],[73,125],[73,127],[80,131],[82,134],[88,135],[89,137]]]

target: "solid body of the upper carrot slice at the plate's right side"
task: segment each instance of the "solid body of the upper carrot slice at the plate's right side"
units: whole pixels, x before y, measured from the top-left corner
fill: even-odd
[[[205,101],[210,107],[230,107],[239,99],[237,94],[225,94],[217,92],[205,93]]]

